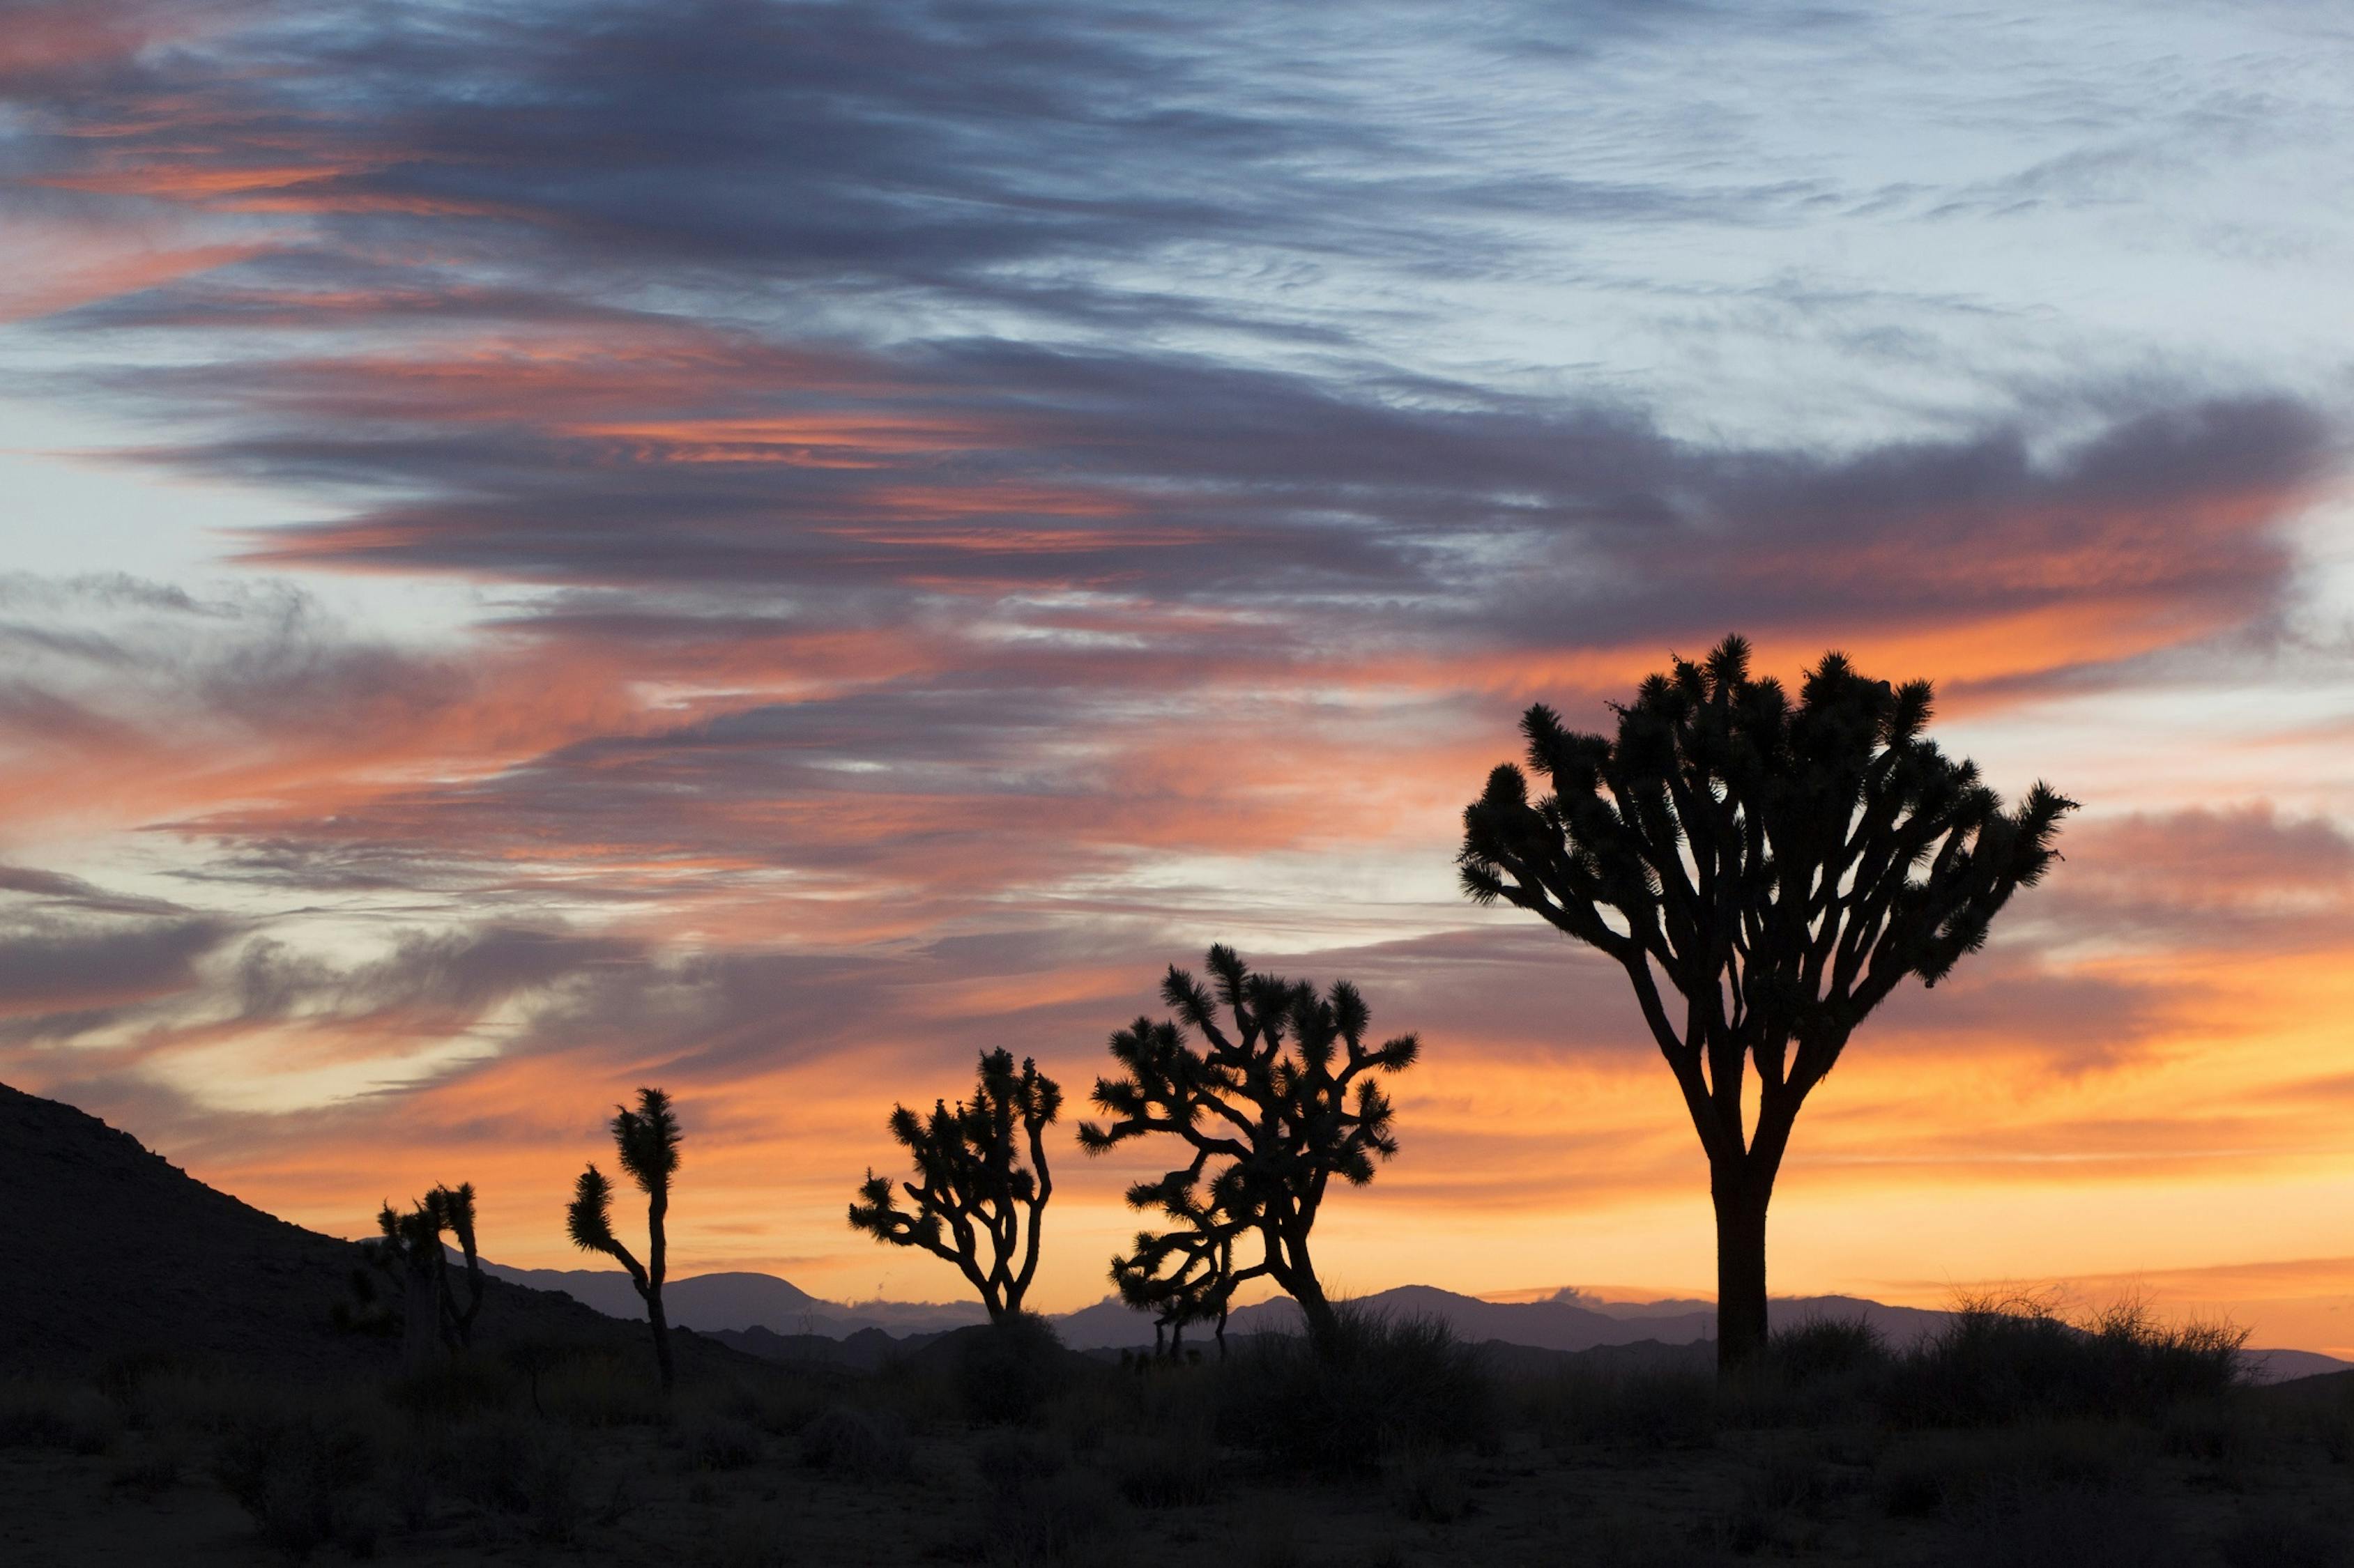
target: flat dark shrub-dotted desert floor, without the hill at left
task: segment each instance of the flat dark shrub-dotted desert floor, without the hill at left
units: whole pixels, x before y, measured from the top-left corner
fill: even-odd
[[[1123,1368],[975,1330],[880,1373],[704,1368],[669,1403],[603,1351],[327,1384],[139,1361],[0,1389],[0,1561],[2349,1561],[2345,1375],[1973,1410],[1942,1406],[1954,1368],[1827,1337],[1730,1389],[1495,1375],[1377,1326],[1337,1368],[1297,1342]]]

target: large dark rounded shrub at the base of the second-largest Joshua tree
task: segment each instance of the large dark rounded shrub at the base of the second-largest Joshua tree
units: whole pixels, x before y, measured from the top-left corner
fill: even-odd
[[[1441,1318],[1344,1304],[1328,1356],[1259,1335],[1215,1373],[1219,1436],[1295,1469],[1363,1474],[1403,1446],[1464,1448],[1495,1431],[1488,1377]]]

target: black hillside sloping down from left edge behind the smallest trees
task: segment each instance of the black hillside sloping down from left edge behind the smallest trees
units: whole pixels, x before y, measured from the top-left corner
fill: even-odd
[[[332,1377],[398,1358],[388,1340],[330,1323],[358,1245],[205,1187],[71,1104],[0,1085],[0,1373],[87,1373],[158,1351]],[[490,1283],[476,1337],[645,1344],[643,1328],[506,1281]],[[680,1356],[730,1351],[683,1337]]]

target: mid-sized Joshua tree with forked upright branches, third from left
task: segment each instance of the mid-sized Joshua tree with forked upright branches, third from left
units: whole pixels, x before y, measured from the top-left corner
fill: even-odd
[[[1024,1059],[1017,1074],[1010,1050],[984,1050],[972,1099],[953,1109],[935,1099],[930,1116],[892,1107],[890,1135],[916,1158],[916,1180],[899,1191],[916,1208],[899,1208],[890,1177],[869,1170],[850,1224],[956,1264],[979,1290],[991,1323],[1019,1316],[1038,1274],[1045,1203],[1055,1196],[1045,1130],[1059,1114],[1062,1085],[1036,1062]],[[1019,1163],[1024,1156],[1029,1168]]]

